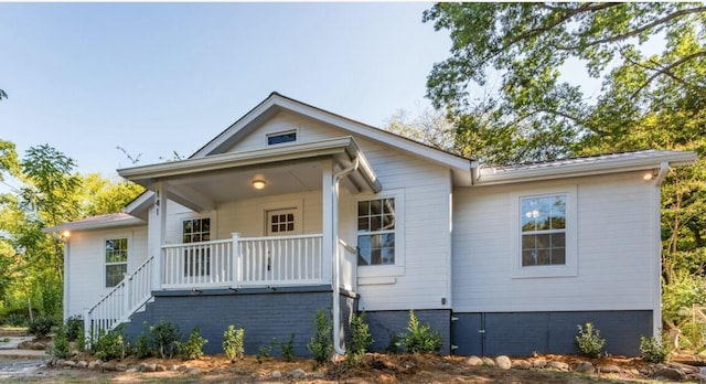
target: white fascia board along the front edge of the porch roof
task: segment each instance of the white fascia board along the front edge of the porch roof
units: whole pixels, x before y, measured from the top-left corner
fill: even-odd
[[[302,145],[257,149],[245,152],[212,154],[203,158],[169,161],[159,164],[124,168],[118,174],[128,180],[140,181],[174,177],[194,172],[206,172],[226,168],[256,166],[320,156],[331,156],[346,150],[353,142],[350,136]],[[149,183],[149,182],[148,182]]]

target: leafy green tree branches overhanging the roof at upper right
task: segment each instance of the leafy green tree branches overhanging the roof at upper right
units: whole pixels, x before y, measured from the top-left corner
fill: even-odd
[[[512,153],[503,160],[567,156],[585,135],[642,120],[673,96],[665,87],[702,103],[705,18],[700,3],[437,3],[422,20],[449,30],[452,49],[429,74],[427,96],[461,117],[458,135],[502,138]],[[648,42],[663,52],[649,53]],[[586,74],[561,77],[569,60]],[[502,78],[481,89],[489,73]],[[595,103],[566,81],[582,75],[606,76]]]

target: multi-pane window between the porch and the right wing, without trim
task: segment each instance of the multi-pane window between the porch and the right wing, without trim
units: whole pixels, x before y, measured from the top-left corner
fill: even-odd
[[[357,202],[357,263],[395,264],[395,199]]]

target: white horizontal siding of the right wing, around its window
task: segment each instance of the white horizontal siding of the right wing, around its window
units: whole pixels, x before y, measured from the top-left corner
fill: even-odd
[[[459,188],[453,203],[453,310],[656,310],[659,189],[641,172]],[[517,278],[512,199],[576,188],[576,276]],[[516,204],[514,205],[516,206]],[[516,215],[515,215],[516,217]],[[542,268],[542,267],[525,267]],[[656,307],[656,308],[655,308]]]

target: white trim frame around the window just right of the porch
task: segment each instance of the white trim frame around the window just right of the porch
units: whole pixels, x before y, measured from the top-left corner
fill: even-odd
[[[405,275],[405,190],[385,190],[377,194],[360,194],[354,201],[353,231],[357,247],[357,203],[377,199],[395,199],[395,264],[357,266],[357,277],[388,277]],[[357,259],[357,255],[355,255]]]

